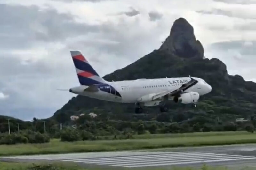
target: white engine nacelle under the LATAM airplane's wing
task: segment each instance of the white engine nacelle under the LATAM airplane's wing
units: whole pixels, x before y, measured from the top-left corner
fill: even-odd
[[[188,92],[183,93],[180,95],[180,97],[175,96],[173,98],[173,101],[175,103],[183,103],[183,104],[190,104],[190,103],[196,103],[199,100],[199,94],[198,92]]]

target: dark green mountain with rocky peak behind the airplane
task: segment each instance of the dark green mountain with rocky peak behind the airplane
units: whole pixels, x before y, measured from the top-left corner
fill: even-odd
[[[196,114],[212,119],[217,116],[225,119],[228,118],[227,115],[246,117],[254,114],[256,83],[246,82],[239,75],[228,75],[226,65],[219,59],[204,59],[204,48],[200,41],[196,40],[193,27],[184,18],[174,22],[170,35],[158,50],[104,76],[104,79],[118,81],[188,75],[203,78],[212,86],[212,92],[200,98],[198,108],[173,103],[169,110],[172,115],[187,113],[188,116],[182,118],[186,120]],[[134,104],[119,104],[77,96],[56,111],[53,118],[58,122],[66,122],[70,115],[94,111],[107,114],[112,119],[130,120],[134,118],[132,114],[127,113],[133,113],[133,110]],[[144,119],[156,119],[158,110],[158,107],[148,108],[151,116]]]

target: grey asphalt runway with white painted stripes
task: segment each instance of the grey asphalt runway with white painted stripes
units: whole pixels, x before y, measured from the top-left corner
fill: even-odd
[[[156,168],[170,166],[199,167],[228,166],[241,169],[249,166],[256,169],[256,145],[228,145],[208,147],[167,148],[136,151],[90,152],[33,156],[1,157],[2,161],[60,161],[73,162],[85,167]]]

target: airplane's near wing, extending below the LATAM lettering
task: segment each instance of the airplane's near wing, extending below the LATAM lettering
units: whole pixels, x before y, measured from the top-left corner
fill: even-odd
[[[180,94],[182,94],[185,90],[187,90],[188,88],[190,88],[193,85],[195,85],[196,83],[198,83],[198,81],[195,80],[194,78],[190,77],[190,79],[191,80],[188,83],[185,83],[185,84],[181,85],[180,88],[178,88],[174,91],[165,91],[165,92],[160,92],[160,93],[154,95],[152,97],[152,100],[159,99],[159,98],[161,98],[163,96],[166,96],[166,95],[168,95],[168,96],[180,96]]]

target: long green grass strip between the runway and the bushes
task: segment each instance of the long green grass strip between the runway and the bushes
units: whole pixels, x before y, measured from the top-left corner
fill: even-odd
[[[0,156],[256,143],[256,135],[248,132],[154,134],[135,135],[134,138],[75,142],[53,139],[50,143],[44,144],[0,145]]]

